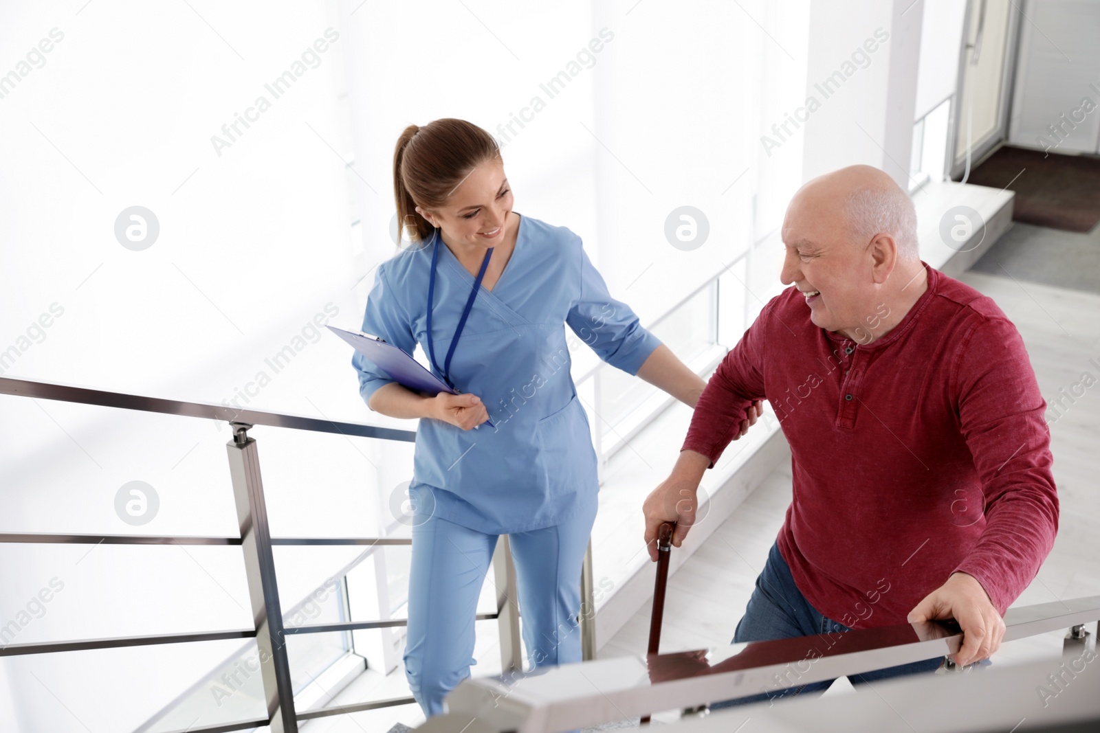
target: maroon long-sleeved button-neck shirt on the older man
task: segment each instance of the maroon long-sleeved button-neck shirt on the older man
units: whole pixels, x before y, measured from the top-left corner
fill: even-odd
[[[847,626],[904,623],[955,570],[1003,614],[1058,529],[1046,402],[1019,332],[925,268],[927,291],[866,345],[815,326],[795,288],[773,298],[683,444],[713,467],[750,401],[771,403],[794,475],[780,553],[810,603]]]

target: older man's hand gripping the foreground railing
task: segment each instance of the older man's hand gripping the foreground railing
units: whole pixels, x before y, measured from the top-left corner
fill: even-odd
[[[993,608],[986,589],[966,573],[954,573],[947,582],[924,597],[909,612],[910,623],[955,619],[963,630],[963,647],[952,655],[961,666],[989,658],[1001,646],[1004,619]]]

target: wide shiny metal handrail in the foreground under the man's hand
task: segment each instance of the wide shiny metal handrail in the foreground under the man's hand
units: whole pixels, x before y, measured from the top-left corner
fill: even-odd
[[[1067,649],[1080,648],[1086,636],[1084,624],[1092,621],[1098,621],[1100,634],[1100,596],[1009,609],[1003,642],[1069,628]],[[504,676],[468,679],[447,697],[449,712],[430,719],[420,730],[457,733],[476,718],[483,731],[558,733],[663,710],[778,693],[788,687],[937,656],[947,658],[961,644],[963,632],[954,621],[933,621],[648,657],[614,657],[520,676],[512,684]]]

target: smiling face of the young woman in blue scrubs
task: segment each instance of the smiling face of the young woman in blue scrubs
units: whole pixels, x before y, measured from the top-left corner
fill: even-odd
[[[499,157],[477,165],[436,209],[417,211],[442,230],[443,241],[452,247],[494,247],[510,230],[512,187]]]

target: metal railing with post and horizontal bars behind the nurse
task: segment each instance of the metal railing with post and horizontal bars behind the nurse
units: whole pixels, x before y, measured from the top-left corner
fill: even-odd
[[[261,410],[241,410],[231,407],[168,400],[138,395],[124,395],[72,385],[38,382],[28,379],[0,377],[0,395],[30,397],[64,402],[94,404],[98,407],[138,410],[201,418],[228,422],[233,429],[233,437],[227,444],[230,474],[238,513],[240,535],[226,536],[158,536],[119,535],[87,533],[0,533],[0,543],[33,544],[113,544],[113,545],[232,545],[244,552],[245,574],[252,603],[254,629],[204,631],[184,634],[160,634],[146,636],[122,636],[98,640],[70,640],[64,642],[36,642],[0,646],[0,657],[73,652],[84,649],[117,648],[154,644],[176,644],[199,641],[222,641],[232,638],[255,638],[260,648],[261,676],[267,707],[266,719],[250,719],[233,723],[219,723],[206,728],[189,728],[190,733],[221,733],[258,725],[271,725],[273,733],[293,733],[298,730],[298,721],[323,715],[358,712],[382,707],[414,702],[410,697],[374,700],[352,706],[333,706],[297,713],[294,706],[294,690],[290,685],[289,660],[286,654],[288,634],[308,634],[354,631],[362,629],[387,629],[408,623],[407,619],[383,619],[375,621],[338,622],[309,626],[285,626],[275,580],[275,565],[272,548],[282,546],[393,546],[410,545],[408,537],[272,537],[267,525],[267,510],[263,485],[260,477],[260,459],[255,438],[248,431],[254,425],[289,427],[312,432],[337,433],[345,436],[372,437],[377,440],[415,442],[416,432],[364,425],[359,423],[318,420],[302,415],[292,415]],[[513,669],[521,664],[519,647],[518,609],[512,598],[515,588],[515,568],[508,551],[507,537],[497,543],[494,558],[496,586],[498,588],[495,613],[481,613],[476,620],[496,620],[501,626],[501,657],[504,669]],[[370,552],[370,551],[367,551]]]

